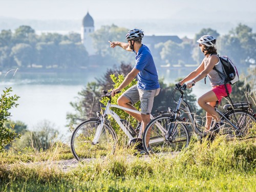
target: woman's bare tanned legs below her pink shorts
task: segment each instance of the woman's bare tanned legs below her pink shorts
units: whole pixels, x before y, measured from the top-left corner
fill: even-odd
[[[210,129],[212,117],[217,122],[220,121],[220,116],[215,111],[215,108],[214,108],[217,100],[218,98],[213,91],[209,91],[205,93],[198,99],[198,104],[201,106],[201,108],[203,108],[206,111],[206,124],[205,124],[206,131]]]

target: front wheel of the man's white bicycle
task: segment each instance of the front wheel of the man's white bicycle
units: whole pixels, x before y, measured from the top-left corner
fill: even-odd
[[[89,119],[80,123],[74,130],[71,151],[78,161],[114,153],[117,138],[115,131],[108,124],[103,125],[97,143],[93,143],[99,125],[100,119]]]

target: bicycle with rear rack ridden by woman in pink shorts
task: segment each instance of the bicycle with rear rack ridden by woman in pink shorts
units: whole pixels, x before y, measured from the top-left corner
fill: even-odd
[[[184,99],[185,90],[186,84],[183,84],[183,86],[176,85],[174,93],[178,91],[181,94],[176,110],[169,109],[167,113],[159,113],[159,116],[152,119],[145,127],[142,138],[143,147],[147,153],[180,151],[188,145],[193,132],[201,138],[209,136],[209,132],[200,129],[196,115],[191,112],[189,104]],[[227,139],[234,137],[246,139],[256,136],[256,120],[251,109],[251,102],[225,104],[223,109],[224,112],[218,110],[217,102],[215,110],[221,116],[221,121],[224,122],[220,135],[225,135]],[[181,114],[184,113],[188,116],[188,122],[181,117]],[[158,124],[162,125],[161,130],[159,126],[156,126]],[[214,120],[211,124],[214,126]],[[189,127],[193,130],[189,130]]]

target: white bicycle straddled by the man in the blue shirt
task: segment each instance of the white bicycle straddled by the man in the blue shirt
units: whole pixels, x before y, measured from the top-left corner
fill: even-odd
[[[118,108],[137,114],[141,113],[136,110],[124,108],[123,106],[111,104],[111,92],[107,93],[103,91],[103,95],[100,98],[102,97],[109,98],[104,110],[100,105],[103,114],[97,112],[96,118],[90,118],[81,122],[73,131],[71,137],[71,151],[78,161],[115,152],[117,134],[111,126],[109,117],[113,117],[124,134],[129,138],[129,146],[137,145],[137,147],[142,147],[140,123],[138,123],[137,128],[134,129],[129,122],[121,119],[111,108]],[[152,115],[151,118],[153,118]]]

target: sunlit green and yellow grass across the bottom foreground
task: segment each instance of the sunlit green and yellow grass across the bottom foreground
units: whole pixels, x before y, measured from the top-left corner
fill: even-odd
[[[179,154],[133,157],[131,150],[62,172],[44,164],[0,165],[1,191],[255,191],[256,142],[194,141]]]

